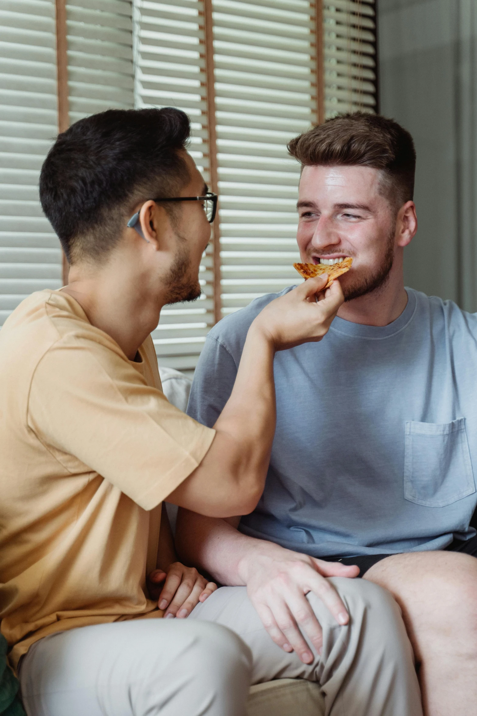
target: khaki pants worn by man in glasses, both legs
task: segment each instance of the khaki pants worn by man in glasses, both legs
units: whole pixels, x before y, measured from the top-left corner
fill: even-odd
[[[222,587],[188,619],[99,624],[36,642],[19,674],[26,713],[245,716],[252,682],[263,686],[254,687],[249,716],[422,716],[413,655],[395,601],[362,579],[331,581],[351,621],[339,627],[320,600],[309,596],[324,637],[323,655],[313,664],[302,664],[272,642],[244,587]],[[295,680],[287,682],[290,677]],[[270,687],[265,682],[271,679],[282,681]],[[277,692],[280,705],[272,710]]]

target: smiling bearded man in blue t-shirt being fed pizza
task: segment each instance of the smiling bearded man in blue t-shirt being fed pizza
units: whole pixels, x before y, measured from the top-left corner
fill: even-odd
[[[323,576],[323,594],[331,574],[384,586],[403,609],[426,715],[471,716],[477,315],[404,288],[403,249],[417,230],[408,132],[350,115],[289,148],[303,165],[302,261],[351,256],[338,279],[345,304],[321,342],[275,355],[277,427],[255,511],[227,521],[180,513],[190,537],[178,548],[222,584],[246,584],[272,639],[303,660],[310,643],[319,648],[307,570]],[[205,425],[230,395],[248,327],[274,298],[208,335],[187,409]]]

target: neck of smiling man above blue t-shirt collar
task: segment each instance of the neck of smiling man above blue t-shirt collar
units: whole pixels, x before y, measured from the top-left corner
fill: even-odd
[[[399,318],[407,303],[402,258],[396,257],[385,284],[370,294],[344,303],[338,316],[366,326],[388,326]]]

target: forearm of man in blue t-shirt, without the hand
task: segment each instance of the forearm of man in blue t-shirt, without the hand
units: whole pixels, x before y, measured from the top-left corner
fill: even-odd
[[[227,586],[247,584],[247,568],[258,558],[272,557],[282,548],[240,533],[225,520],[180,509],[175,536],[182,561],[207,571]]]

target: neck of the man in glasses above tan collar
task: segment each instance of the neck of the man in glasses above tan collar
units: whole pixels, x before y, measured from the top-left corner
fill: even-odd
[[[154,331],[165,302],[148,291],[149,277],[112,258],[100,268],[74,264],[63,291],[79,303],[89,322],[117,342],[129,360]]]

